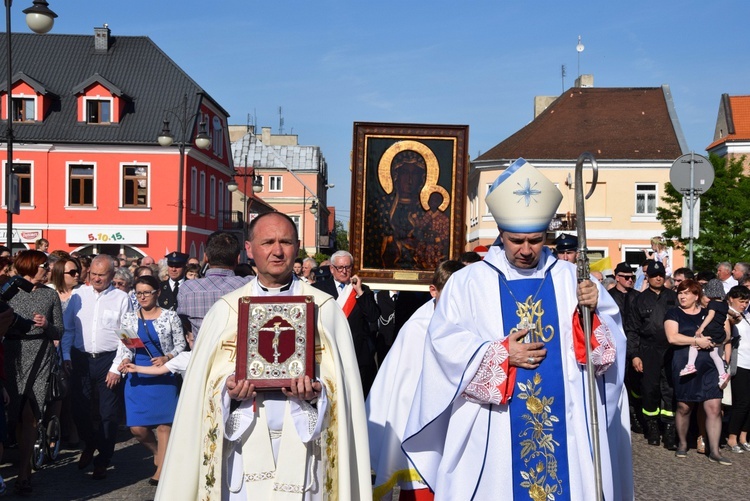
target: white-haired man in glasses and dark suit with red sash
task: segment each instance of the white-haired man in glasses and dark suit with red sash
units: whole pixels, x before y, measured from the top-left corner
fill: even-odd
[[[359,377],[366,398],[377,373],[375,333],[370,329],[370,324],[377,323],[380,310],[370,288],[357,275],[352,275],[353,262],[354,259],[348,252],[335,252],[331,256],[331,278],[317,281],[313,287],[335,297],[344,310],[352,331]]]

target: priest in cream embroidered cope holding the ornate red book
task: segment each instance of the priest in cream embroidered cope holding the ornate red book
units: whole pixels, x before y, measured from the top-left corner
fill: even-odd
[[[335,299],[294,276],[299,244],[288,216],[258,216],[246,247],[258,276],[203,320],[156,499],[370,499],[364,398],[346,317]],[[315,374],[282,391],[235,378],[243,296],[313,297]]]

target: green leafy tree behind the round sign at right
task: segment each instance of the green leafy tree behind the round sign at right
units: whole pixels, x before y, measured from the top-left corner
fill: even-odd
[[[750,260],[750,176],[742,168],[743,159],[727,160],[710,156],[714,183],[700,197],[700,233],[693,240],[693,267],[714,270],[722,261]],[[664,225],[664,238],[688,252],[688,239],[682,233],[682,194],[671,183],[665,187],[664,206],[657,208],[657,219]],[[676,240],[674,240],[676,239]]]

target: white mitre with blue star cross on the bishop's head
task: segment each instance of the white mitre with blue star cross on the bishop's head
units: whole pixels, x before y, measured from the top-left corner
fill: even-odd
[[[533,165],[519,158],[492,183],[486,202],[501,230],[536,233],[547,230],[562,202],[562,193]]]

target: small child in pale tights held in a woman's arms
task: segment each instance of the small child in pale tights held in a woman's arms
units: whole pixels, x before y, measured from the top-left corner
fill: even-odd
[[[705,335],[705,337],[710,337],[716,345],[711,350],[710,355],[711,360],[716,365],[716,370],[719,372],[719,388],[723,390],[729,382],[729,374],[724,368],[724,360],[721,358],[719,350],[723,349],[731,335],[731,329],[727,322],[727,316],[730,314],[729,305],[724,301],[724,287],[721,281],[716,278],[703,286],[703,295],[709,299],[706,305],[708,313],[701,326],[695,331],[695,336]],[[698,348],[691,346],[687,365],[680,371],[680,376],[687,376],[696,372],[695,359],[697,356]]]

